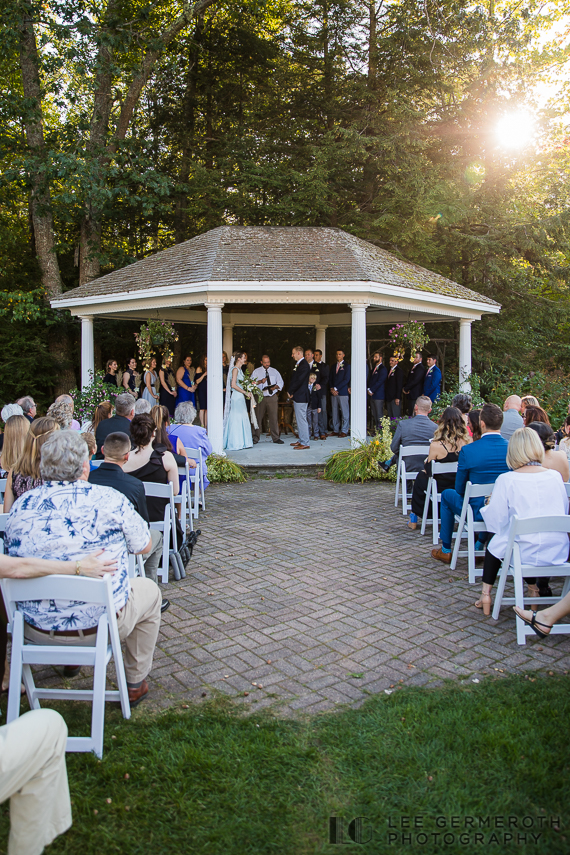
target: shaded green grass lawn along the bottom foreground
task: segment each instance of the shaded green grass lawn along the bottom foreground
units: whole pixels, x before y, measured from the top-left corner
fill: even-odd
[[[86,732],[88,705],[57,708],[70,733]],[[108,707],[103,760],[68,755],[73,827],[47,851],[566,855],[569,721],[563,676],[401,689],[299,721],[227,700],[156,715],[143,704],[130,722]],[[371,839],[352,843],[350,830]]]

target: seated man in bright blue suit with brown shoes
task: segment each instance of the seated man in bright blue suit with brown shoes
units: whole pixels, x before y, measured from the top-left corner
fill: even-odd
[[[461,513],[467,482],[472,484],[494,484],[499,475],[508,472],[507,448],[509,443],[501,436],[503,413],[496,404],[484,404],[479,416],[481,439],[464,445],[459,452],[455,490],[444,490],[441,494],[441,547],[432,549],[433,558],[451,563],[451,541],[455,515]],[[481,520],[481,508],[485,499],[473,499],[473,517]]]

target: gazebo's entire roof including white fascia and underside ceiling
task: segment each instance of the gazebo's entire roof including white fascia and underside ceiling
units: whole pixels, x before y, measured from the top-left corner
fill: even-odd
[[[426,320],[500,311],[494,300],[341,229],[265,226],[212,229],[75,288],[52,306],[76,315],[156,312],[200,323],[197,308],[215,302],[224,304],[224,316],[241,314],[244,323],[273,311],[292,319],[318,314],[322,323],[337,315],[338,323],[352,302],[371,307],[369,322],[374,307],[384,315],[418,312]]]

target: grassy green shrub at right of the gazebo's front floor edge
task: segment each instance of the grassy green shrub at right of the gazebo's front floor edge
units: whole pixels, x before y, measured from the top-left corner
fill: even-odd
[[[356,481],[395,481],[396,466],[392,466],[389,472],[384,472],[380,466],[381,461],[392,457],[391,442],[390,419],[383,418],[381,433],[377,433],[369,442],[364,440],[354,448],[332,454],[326,461],[324,477],[327,481],[340,484],[353,484]]]

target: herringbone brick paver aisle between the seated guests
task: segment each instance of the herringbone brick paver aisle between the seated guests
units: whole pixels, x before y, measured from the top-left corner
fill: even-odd
[[[393,495],[313,478],[211,486],[187,578],[165,591],[153,704],[217,690],[292,715],[402,684],[570,670],[568,637],[519,647],[512,609],[479,613],[466,561],[433,561]]]

